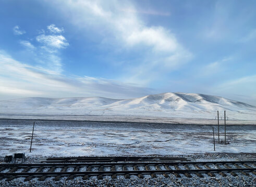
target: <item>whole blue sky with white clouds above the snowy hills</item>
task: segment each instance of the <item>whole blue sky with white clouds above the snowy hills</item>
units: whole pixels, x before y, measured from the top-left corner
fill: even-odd
[[[0,100],[187,92],[256,105],[256,1],[0,7]]]

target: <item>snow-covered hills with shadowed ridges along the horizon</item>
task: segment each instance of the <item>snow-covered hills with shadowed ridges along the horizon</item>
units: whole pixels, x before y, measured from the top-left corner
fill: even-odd
[[[256,106],[218,96],[167,92],[133,99],[21,98],[0,101],[0,114],[106,115],[214,118],[216,111],[233,119],[256,119]],[[254,119],[255,118],[255,119]]]

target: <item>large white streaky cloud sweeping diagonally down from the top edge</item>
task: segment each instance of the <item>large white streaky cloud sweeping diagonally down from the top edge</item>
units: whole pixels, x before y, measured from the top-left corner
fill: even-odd
[[[130,2],[69,0],[48,3],[58,6],[62,12],[68,11],[68,20],[77,28],[99,34],[102,37],[101,45],[111,46],[120,54],[122,51],[140,50],[136,65],[123,65],[124,72],[127,72],[124,77],[133,77],[129,79],[133,82],[143,80],[146,83],[147,79],[149,83],[155,78],[151,74],[169,73],[193,57],[172,31],[162,26],[148,26],[143,22]],[[124,11],[124,7],[133,11]]]

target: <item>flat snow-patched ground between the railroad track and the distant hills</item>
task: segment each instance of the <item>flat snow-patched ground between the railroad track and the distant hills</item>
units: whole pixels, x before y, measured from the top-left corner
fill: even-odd
[[[213,150],[212,125],[0,120],[1,155],[28,156],[188,155],[193,153],[256,153],[256,126],[228,125],[228,145]],[[224,127],[220,127],[224,140]]]

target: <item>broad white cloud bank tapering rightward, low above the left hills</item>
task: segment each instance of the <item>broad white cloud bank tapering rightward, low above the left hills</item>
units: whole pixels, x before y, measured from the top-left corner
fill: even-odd
[[[111,79],[65,76],[51,69],[31,66],[14,60],[0,51],[1,97],[139,97],[148,88],[121,83]],[[3,98],[2,97],[2,98]]]

